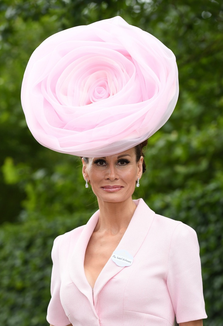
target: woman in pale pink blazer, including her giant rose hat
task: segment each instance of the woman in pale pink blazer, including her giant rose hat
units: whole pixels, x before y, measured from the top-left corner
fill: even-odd
[[[54,241],[50,325],[172,326],[176,315],[181,326],[201,326],[207,318],[196,232],[132,200],[143,147],[177,96],[173,53],[120,17],[57,33],[31,56],[27,124],[44,146],[82,157],[99,204],[85,226]]]

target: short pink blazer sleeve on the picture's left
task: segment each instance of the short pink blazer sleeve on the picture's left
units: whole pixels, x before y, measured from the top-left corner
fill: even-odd
[[[51,275],[51,300],[47,309],[47,321],[54,326],[66,326],[70,324],[60,300],[60,262],[59,262],[59,244],[61,236],[54,240],[52,248],[52,275]]]

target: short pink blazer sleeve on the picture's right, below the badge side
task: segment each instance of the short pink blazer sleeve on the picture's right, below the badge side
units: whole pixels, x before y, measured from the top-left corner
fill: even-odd
[[[199,252],[195,230],[179,223],[171,239],[167,273],[177,323],[207,318]]]

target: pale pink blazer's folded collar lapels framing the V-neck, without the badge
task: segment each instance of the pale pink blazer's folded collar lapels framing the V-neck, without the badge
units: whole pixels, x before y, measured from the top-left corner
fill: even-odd
[[[116,248],[116,250],[127,250],[133,257],[136,255],[144,241],[155,216],[155,213],[146,205],[143,199],[134,200],[134,202],[136,203],[137,208],[132,216],[128,228]],[[98,218],[99,211],[91,216],[88,223],[81,230],[69,262],[69,274],[72,282],[77,286],[79,291],[90,300],[92,305],[94,305],[92,301],[92,290],[93,296],[96,300],[99,292],[108,280],[124,268],[116,265],[116,263],[109,258],[101,273],[98,275],[93,289],[89,284],[84,271],[84,258],[88,242],[98,222]]]

